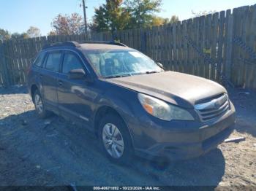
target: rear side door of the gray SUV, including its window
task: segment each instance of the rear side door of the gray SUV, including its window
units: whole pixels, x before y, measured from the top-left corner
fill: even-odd
[[[50,51],[43,64],[43,69],[39,77],[42,79],[42,94],[45,106],[59,113],[57,97],[57,77],[59,75],[62,51]]]

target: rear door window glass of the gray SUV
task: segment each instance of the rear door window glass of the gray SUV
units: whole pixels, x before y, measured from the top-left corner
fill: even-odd
[[[45,63],[45,69],[59,71],[59,63],[61,63],[61,52],[50,52]]]

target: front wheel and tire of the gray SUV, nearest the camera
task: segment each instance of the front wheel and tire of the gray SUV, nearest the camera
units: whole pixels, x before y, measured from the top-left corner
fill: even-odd
[[[113,133],[112,138],[111,133]],[[124,145],[123,149],[121,147],[121,140]],[[104,152],[112,162],[129,165],[134,155],[132,139],[127,125],[118,115],[108,114],[99,122],[99,141],[101,143],[102,152]],[[109,144],[107,144],[107,141]],[[112,153],[111,155],[111,152],[115,154]]]

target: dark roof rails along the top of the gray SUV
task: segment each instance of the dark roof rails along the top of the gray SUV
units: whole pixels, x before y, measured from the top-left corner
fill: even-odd
[[[50,47],[81,47],[80,44],[87,43],[87,44],[113,44],[118,45],[122,47],[127,47],[126,44],[123,44],[121,42],[105,42],[105,41],[67,41],[67,42],[56,42],[51,44],[45,44],[44,47],[42,47],[42,50],[45,50]]]

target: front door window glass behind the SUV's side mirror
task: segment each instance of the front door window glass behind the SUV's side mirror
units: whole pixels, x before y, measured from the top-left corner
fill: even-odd
[[[64,74],[69,73],[70,70],[73,69],[83,69],[83,64],[80,59],[72,53],[65,53],[62,72]]]

